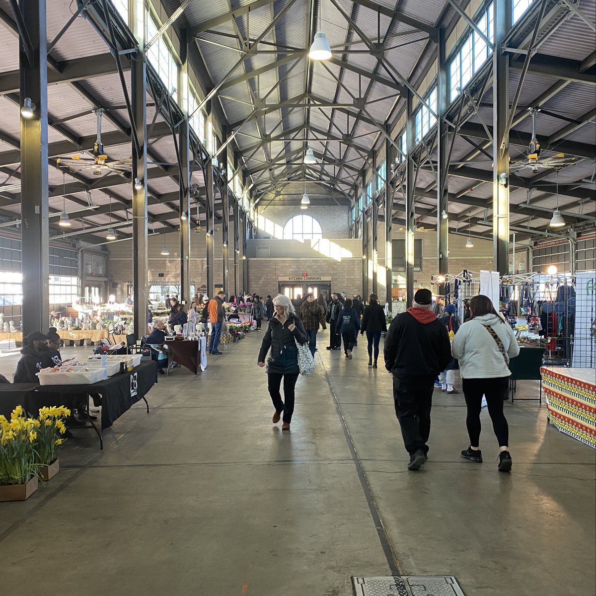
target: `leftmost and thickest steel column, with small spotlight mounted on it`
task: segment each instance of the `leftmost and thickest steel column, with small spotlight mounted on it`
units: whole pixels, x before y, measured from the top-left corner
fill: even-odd
[[[30,98],[32,118],[21,116],[21,272],[23,337],[46,331],[49,316],[48,236],[48,62],[45,0],[21,0],[18,39],[20,100]],[[29,62],[27,52],[32,61]]]

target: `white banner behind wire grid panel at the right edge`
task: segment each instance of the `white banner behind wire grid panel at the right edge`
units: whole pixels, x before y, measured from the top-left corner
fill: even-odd
[[[571,299],[573,300],[573,299]],[[575,274],[574,368],[596,368],[596,272]]]

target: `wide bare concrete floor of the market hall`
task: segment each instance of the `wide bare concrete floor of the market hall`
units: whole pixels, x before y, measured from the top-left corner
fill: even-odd
[[[150,414],[126,412],[103,452],[74,430],[60,473],[0,504],[1,594],[349,596],[352,575],[396,570],[454,575],[467,596],[596,593],[596,454],[548,425],[544,403],[506,404],[502,474],[488,414],[484,463],[461,460],[463,398],[435,392],[429,461],[412,473],[364,341],[353,361],[317,352],[290,433],[271,423],[259,344],[253,332],[197,377],[160,377]]]

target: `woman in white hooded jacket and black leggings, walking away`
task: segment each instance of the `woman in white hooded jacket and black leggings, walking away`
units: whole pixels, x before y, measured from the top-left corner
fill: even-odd
[[[482,396],[486,396],[488,413],[499,442],[499,471],[511,470],[509,427],[503,414],[503,400],[507,395],[511,372],[510,358],[520,353],[511,327],[496,313],[487,296],[470,300],[471,318],[461,325],[451,342],[451,353],[460,361],[467,417],[465,424],[470,446],[461,457],[482,462],[480,451],[480,411]]]

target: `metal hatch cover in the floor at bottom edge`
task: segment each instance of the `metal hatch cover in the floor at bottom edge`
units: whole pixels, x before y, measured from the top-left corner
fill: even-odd
[[[449,576],[352,578],[356,596],[465,596]]]

